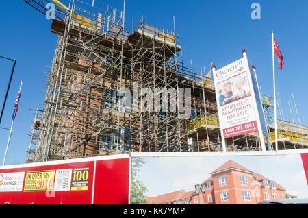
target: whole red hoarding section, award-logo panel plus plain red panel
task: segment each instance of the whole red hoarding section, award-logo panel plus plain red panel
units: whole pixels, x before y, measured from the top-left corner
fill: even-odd
[[[0,167],[0,204],[128,203],[128,155]]]

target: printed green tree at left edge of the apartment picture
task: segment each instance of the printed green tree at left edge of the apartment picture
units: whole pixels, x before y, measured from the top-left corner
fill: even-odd
[[[142,158],[131,158],[131,204],[146,204],[146,186],[138,180],[138,172],[144,164]]]

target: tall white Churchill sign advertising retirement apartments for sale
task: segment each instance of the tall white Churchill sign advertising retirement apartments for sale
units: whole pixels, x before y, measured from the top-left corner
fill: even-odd
[[[265,122],[263,111],[258,110],[259,101],[256,101],[259,97],[259,89],[257,83],[252,80],[251,73],[254,72],[249,67],[246,51],[243,54],[243,58],[218,71],[214,68],[222,138],[231,138],[257,131],[262,133],[261,122]],[[267,132],[264,134],[267,135]],[[261,143],[263,141],[264,145],[264,136],[260,135],[260,141]],[[223,147],[225,149],[225,145]]]

